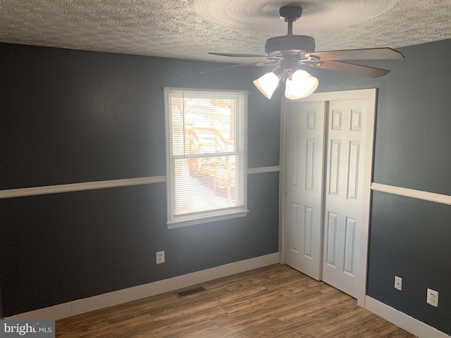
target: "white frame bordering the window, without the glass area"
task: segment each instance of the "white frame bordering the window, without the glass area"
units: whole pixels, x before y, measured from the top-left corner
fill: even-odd
[[[202,94],[204,92],[206,96],[211,96],[214,93],[218,93],[218,98],[223,98],[225,95],[237,95],[240,94],[244,96],[245,109],[242,115],[235,112],[235,118],[240,123],[235,127],[239,129],[237,133],[240,133],[240,139],[242,146],[240,146],[241,151],[236,152],[240,154],[243,158],[244,163],[242,163],[242,170],[244,178],[242,180],[244,189],[242,193],[244,194],[244,205],[236,206],[231,209],[224,210],[214,210],[205,211],[203,213],[196,213],[194,215],[182,215],[175,216],[175,175],[173,175],[175,170],[175,158],[180,158],[173,156],[173,139],[172,139],[172,121],[171,121],[171,95],[180,94]],[[243,95],[245,94],[245,95]],[[200,223],[209,223],[218,220],[226,220],[230,218],[239,218],[247,215],[247,95],[249,93],[242,90],[218,90],[218,89],[191,89],[191,88],[173,88],[164,87],[164,108],[165,108],[165,123],[166,123],[166,198],[167,198],[167,225],[168,228],[175,227],[185,227],[187,225],[195,225]],[[235,138],[236,139],[236,138]],[[243,143],[244,141],[244,143]],[[219,153],[218,153],[219,154]],[[214,154],[211,155],[214,157]],[[216,155],[218,156],[218,155]],[[200,157],[200,156],[199,156]],[[240,189],[240,188],[238,188]]]

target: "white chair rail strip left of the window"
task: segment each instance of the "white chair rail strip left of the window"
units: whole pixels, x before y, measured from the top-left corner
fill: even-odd
[[[82,182],[72,184],[49,185],[46,187],[30,187],[0,190],[0,199],[11,197],[58,194],[61,192],[80,192],[82,190],[129,187],[132,185],[153,184],[166,182],[166,176],[138,177],[123,180],[108,180],[97,182]]]

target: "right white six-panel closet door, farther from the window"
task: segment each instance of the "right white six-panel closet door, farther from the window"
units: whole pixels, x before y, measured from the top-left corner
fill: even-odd
[[[366,100],[328,104],[323,281],[356,298],[366,106]]]

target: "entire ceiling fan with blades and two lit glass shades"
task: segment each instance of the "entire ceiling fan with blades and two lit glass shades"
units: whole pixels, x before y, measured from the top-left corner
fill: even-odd
[[[265,55],[209,53],[218,56],[240,58],[264,57],[271,62],[257,62],[249,65],[266,65],[279,63],[270,72],[266,73],[254,84],[264,96],[271,99],[280,81],[286,82],[285,96],[288,99],[301,99],[312,94],[318,87],[318,80],[302,68],[310,66],[335,70],[341,73],[360,75],[366,77],[380,77],[390,73],[390,70],[373,68],[353,63],[344,63],[345,60],[376,60],[399,59],[404,56],[391,48],[349,49],[342,51],[315,52],[315,39],[307,35],[293,35],[293,23],[302,15],[301,6],[283,6],[279,8],[279,16],[288,23],[288,34],[280,37],[271,37],[266,40]]]

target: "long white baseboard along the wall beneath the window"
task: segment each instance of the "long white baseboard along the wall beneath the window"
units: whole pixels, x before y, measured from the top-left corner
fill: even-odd
[[[245,271],[276,263],[279,263],[278,252],[197,271],[195,273],[188,273],[187,275],[168,278],[167,280],[159,280],[137,287],[130,287],[128,289],[109,292],[107,294],[99,294],[98,296],[78,299],[68,303],[50,306],[49,308],[40,308],[35,311],[19,313],[18,315],[13,315],[5,319],[58,320],[72,315],[79,315],[80,313],[99,310],[99,308],[106,308],[128,301],[135,301],[136,299],[154,296],[155,294],[163,294],[164,292],[171,292],[184,287],[190,287],[194,284],[216,280],[221,277],[235,275],[236,273],[244,273]]]

